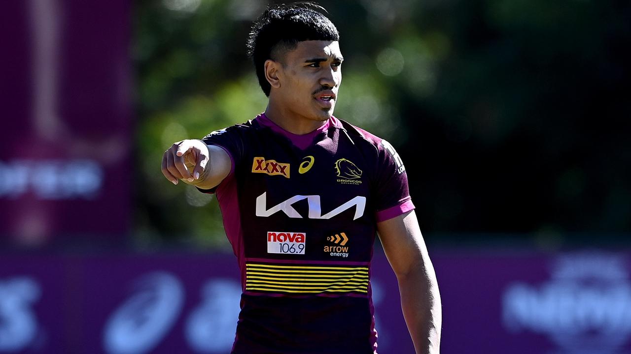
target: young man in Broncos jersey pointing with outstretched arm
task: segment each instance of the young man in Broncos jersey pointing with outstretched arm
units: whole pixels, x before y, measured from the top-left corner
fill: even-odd
[[[391,144],[333,117],[339,34],[314,8],[276,6],[254,23],[265,112],[176,142],[162,173],[219,200],[243,288],[232,353],[376,353],[375,231],[416,353],[439,353],[440,295],[405,168]]]

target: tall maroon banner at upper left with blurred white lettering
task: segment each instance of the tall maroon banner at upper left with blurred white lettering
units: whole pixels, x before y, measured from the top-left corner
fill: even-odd
[[[129,230],[129,1],[3,4],[0,235]]]

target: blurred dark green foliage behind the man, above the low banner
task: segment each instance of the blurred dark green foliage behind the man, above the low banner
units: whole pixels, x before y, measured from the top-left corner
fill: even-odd
[[[346,58],[335,114],[397,147],[426,237],[631,231],[630,3],[319,3]],[[264,6],[135,3],[138,244],[228,247],[213,196],[159,164],[173,142],[264,110],[245,56]]]

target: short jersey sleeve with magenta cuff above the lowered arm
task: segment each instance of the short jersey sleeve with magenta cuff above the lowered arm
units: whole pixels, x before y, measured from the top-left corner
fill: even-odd
[[[377,222],[392,219],[414,208],[408,189],[408,175],[401,157],[386,140],[377,144]]]

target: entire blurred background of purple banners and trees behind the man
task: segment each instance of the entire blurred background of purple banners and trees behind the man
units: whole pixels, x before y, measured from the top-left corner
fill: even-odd
[[[277,2],[278,3],[278,2]],[[264,110],[259,0],[0,11],[0,353],[228,353],[239,272],[172,142]],[[631,353],[631,4],[319,1],[335,115],[402,157],[443,353]],[[377,243],[379,352],[411,352]]]

